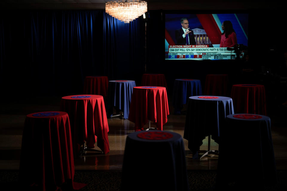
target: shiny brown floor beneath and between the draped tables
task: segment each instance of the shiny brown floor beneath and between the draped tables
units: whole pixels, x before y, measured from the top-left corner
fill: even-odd
[[[10,99],[10,101],[1,102],[0,170],[19,169],[22,132],[26,115],[42,111],[59,111],[60,99],[60,97],[26,98],[22,100],[15,98]],[[170,115],[168,115],[168,120],[163,126],[163,130],[176,132],[183,136],[185,115],[173,115],[171,99],[169,99],[169,109]],[[287,107],[282,106],[267,112],[271,118],[277,170],[287,170]],[[126,136],[134,132],[134,123],[127,119],[115,117],[108,118],[108,124],[110,152],[103,155],[100,149],[95,147],[94,151],[88,151],[86,155],[75,158],[76,170],[121,170]],[[234,141],[240,142],[242,140]],[[188,170],[217,169],[217,155],[208,155],[201,160],[193,160],[192,153],[187,148],[187,140],[185,139],[184,146]],[[31,145],[31,149],[33,149],[33,145]],[[213,140],[211,141],[211,149],[218,149],[218,144]],[[253,149],[252,145],[250,145],[249,148],[234,148],[233,152],[237,152],[238,157],[242,157],[242,160],[250,160],[251,163],[254,163],[256,161],[252,160]],[[199,154],[203,154],[207,150],[207,138],[204,139],[200,150]]]

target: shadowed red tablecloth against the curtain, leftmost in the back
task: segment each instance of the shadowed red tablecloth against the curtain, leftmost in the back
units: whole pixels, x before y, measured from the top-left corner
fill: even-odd
[[[108,91],[107,76],[86,76],[84,94],[101,95],[106,97]]]

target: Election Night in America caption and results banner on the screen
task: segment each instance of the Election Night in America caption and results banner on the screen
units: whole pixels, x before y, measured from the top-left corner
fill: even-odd
[[[235,58],[234,51],[229,51],[226,47],[209,47],[209,45],[169,45],[165,55],[165,59],[169,60],[230,60]]]

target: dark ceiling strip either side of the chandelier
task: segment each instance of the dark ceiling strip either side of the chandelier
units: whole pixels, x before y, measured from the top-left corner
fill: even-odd
[[[146,0],[149,10],[278,8],[272,1]],[[0,9],[105,9],[106,0],[1,0]]]

